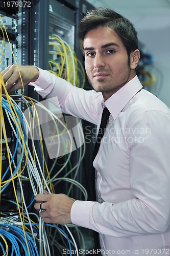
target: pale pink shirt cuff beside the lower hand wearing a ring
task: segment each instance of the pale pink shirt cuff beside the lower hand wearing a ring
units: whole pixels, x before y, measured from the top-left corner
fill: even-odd
[[[75,201],[71,207],[71,222],[77,226],[91,228],[90,217],[92,216],[92,208],[98,202],[91,201]]]

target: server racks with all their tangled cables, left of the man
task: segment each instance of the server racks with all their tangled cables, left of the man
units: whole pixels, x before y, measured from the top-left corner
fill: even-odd
[[[79,20],[93,6],[85,0],[30,1],[30,8],[21,6],[21,1],[11,3],[0,1],[0,71],[12,64],[36,65],[74,86],[91,89],[76,35]],[[74,152],[52,158],[43,138],[53,137],[59,129],[61,135],[65,131],[71,137],[65,124],[68,117],[60,118],[60,110],[45,104],[33,87],[9,95],[2,75],[0,78],[0,255],[53,256],[63,255],[63,249],[75,250],[78,255],[79,248],[93,246],[91,231],[44,224],[34,209],[34,197],[45,188],[49,193],[89,199],[87,163],[93,144],[85,142]],[[79,121],[74,119],[72,125]],[[93,128],[87,122],[82,124],[84,130],[87,125]]]

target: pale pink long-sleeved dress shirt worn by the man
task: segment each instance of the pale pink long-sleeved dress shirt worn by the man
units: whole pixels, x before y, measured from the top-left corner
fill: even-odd
[[[104,105],[111,113],[93,162],[98,202],[77,200],[71,208],[72,223],[100,233],[103,255],[170,255],[167,106],[141,89],[137,76],[104,102],[101,93],[39,70],[36,91],[43,98],[58,96],[67,114],[99,129]]]

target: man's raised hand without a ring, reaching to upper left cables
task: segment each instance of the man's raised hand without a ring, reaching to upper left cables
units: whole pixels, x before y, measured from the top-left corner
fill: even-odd
[[[18,66],[18,68],[16,65],[8,66],[8,68],[2,72],[2,76],[9,93],[22,88],[19,72],[23,86],[27,86],[30,82],[35,82],[39,77],[39,70],[34,66]]]

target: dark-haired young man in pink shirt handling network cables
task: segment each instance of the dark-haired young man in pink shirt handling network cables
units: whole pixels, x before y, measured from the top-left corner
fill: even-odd
[[[128,19],[97,8],[82,19],[78,36],[94,90],[73,87],[36,67],[20,72],[23,83],[35,82],[43,98],[57,96],[65,113],[98,129],[103,109],[110,111],[93,161],[96,201],[45,193],[36,196],[35,208],[43,202],[40,216],[46,223],[72,222],[99,232],[103,255],[170,254],[169,109],[143,90],[136,76],[137,33]],[[9,91],[21,87],[15,66],[3,78]]]

